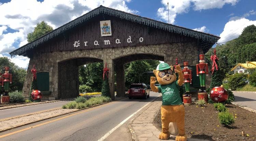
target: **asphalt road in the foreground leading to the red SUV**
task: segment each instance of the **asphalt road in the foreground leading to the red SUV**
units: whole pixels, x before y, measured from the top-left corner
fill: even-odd
[[[97,141],[153,100],[159,93],[150,92],[147,99],[120,99],[101,106],[58,116],[38,123],[0,133],[1,141]],[[131,135],[124,122],[106,140],[129,141]],[[3,137],[3,135],[8,135]]]

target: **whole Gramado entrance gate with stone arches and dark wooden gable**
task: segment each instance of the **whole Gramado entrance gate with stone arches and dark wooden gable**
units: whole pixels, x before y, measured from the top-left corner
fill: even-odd
[[[111,36],[102,36],[100,21],[111,21]],[[105,25],[106,26],[106,22]],[[103,32],[103,31],[102,31]],[[198,63],[219,37],[100,6],[24,45],[10,54],[30,58],[23,94],[28,97],[30,70],[49,73],[49,95],[56,99],[79,95],[78,67],[103,62],[110,68],[109,84],[114,99],[114,70],[117,96],[125,95],[124,64],[141,59],[173,65]]]

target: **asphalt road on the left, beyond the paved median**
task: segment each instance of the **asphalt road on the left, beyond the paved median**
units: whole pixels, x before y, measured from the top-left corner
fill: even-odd
[[[49,110],[49,109],[61,108],[62,105],[69,102],[70,100],[63,100],[63,101],[56,101],[53,103],[45,103],[45,104],[30,105],[30,106],[17,107],[17,108],[11,108],[11,109],[3,109],[3,110],[0,110],[0,119],[11,118],[18,115],[40,112],[40,111]]]

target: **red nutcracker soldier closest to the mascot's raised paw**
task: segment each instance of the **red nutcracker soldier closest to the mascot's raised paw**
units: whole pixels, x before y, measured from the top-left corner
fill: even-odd
[[[184,62],[184,69],[182,70],[183,77],[184,77],[184,84],[186,88],[186,95],[189,96],[189,84],[192,83],[192,72],[191,69],[188,69],[188,62]]]

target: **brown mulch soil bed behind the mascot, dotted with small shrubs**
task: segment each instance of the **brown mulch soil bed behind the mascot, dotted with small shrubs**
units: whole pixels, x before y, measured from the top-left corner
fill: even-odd
[[[185,106],[185,128],[188,138],[213,141],[256,141],[256,113],[232,104],[225,106],[236,116],[235,123],[231,126],[219,123],[218,111],[213,104],[207,104],[203,108],[196,104]],[[161,130],[160,112],[155,117],[154,125]]]

